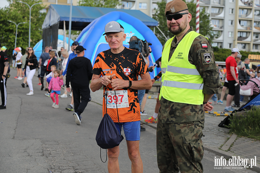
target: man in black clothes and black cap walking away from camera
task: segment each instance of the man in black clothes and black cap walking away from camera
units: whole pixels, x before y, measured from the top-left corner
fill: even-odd
[[[77,125],[80,125],[80,114],[84,111],[91,99],[89,82],[92,78],[92,64],[88,58],[84,57],[85,50],[86,49],[82,46],[77,46],[77,57],[71,59],[68,63],[66,75],[66,90],[70,92],[69,83],[71,83],[71,86],[73,87],[72,92],[75,110],[73,116]]]

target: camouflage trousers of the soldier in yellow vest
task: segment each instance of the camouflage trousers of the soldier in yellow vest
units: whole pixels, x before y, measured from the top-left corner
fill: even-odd
[[[200,121],[161,123],[157,121],[157,163],[160,173],[203,172],[204,148]]]

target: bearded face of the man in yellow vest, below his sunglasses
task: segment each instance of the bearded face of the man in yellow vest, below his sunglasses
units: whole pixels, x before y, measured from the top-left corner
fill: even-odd
[[[185,11],[186,12],[186,11]],[[183,13],[183,12],[181,12]],[[187,29],[188,22],[191,20],[191,14],[183,14],[182,18],[174,20],[167,20],[167,27],[174,35],[179,35]]]

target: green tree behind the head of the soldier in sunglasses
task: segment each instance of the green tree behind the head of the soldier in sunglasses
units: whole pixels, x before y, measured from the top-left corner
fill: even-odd
[[[164,35],[167,37],[167,39],[169,39],[169,38],[173,37],[173,35],[172,35],[172,33],[170,33],[170,31],[168,31],[166,17],[164,15],[166,1],[162,0],[161,2],[157,2],[157,5],[158,5],[158,8],[155,10],[155,16],[153,18],[159,22],[158,27],[161,29],[161,31],[164,33]],[[187,3],[187,6],[189,8],[189,12],[192,14],[192,20],[190,22],[190,26],[192,26],[193,29],[195,30],[195,28],[196,28],[196,4],[194,3],[194,1],[191,1],[191,2]],[[157,35],[161,44],[164,45],[165,42],[167,41],[167,39],[159,31],[159,29],[157,29],[157,28],[155,29],[155,34]],[[205,12],[205,9],[203,9],[200,12],[200,34],[208,37],[210,41],[212,41],[213,38],[217,36],[212,32],[212,27],[210,26],[209,14],[207,14]]]

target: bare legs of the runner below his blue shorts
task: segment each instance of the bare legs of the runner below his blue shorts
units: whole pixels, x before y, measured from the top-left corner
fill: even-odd
[[[143,172],[143,162],[139,152],[139,140],[138,141],[128,141],[127,140],[127,151],[128,157],[132,162],[132,173],[142,173]],[[119,173],[119,146],[107,149],[108,156],[108,172],[109,173]]]

